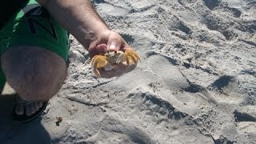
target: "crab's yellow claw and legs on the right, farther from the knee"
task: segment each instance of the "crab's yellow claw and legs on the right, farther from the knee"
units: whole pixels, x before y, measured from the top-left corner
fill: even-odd
[[[130,62],[133,62],[137,65],[138,61],[140,61],[141,58],[138,56],[138,54],[134,50],[126,50],[125,54],[123,56],[123,62],[126,62],[126,64],[129,66]]]

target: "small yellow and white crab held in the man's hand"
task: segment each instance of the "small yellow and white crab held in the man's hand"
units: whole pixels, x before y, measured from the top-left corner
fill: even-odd
[[[138,61],[140,61],[140,57],[134,50],[116,50],[116,51],[106,51],[104,55],[95,55],[91,60],[91,66],[93,67],[94,74],[98,77],[101,77],[98,69],[103,68],[104,70],[113,70],[114,67],[118,66],[118,64],[122,63],[126,66],[130,64],[137,65]]]

